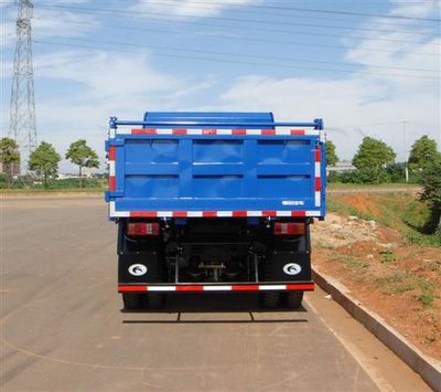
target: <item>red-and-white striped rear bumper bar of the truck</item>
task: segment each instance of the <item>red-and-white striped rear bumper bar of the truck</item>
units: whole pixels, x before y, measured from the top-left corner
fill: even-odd
[[[149,284],[149,285],[119,285],[119,293],[218,293],[218,292],[312,292],[313,282],[299,283],[240,283],[240,284]]]

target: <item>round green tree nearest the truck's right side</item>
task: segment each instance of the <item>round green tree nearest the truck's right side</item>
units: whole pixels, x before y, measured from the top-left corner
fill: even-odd
[[[387,179],[385,167],[394,163],[395,157],[391,147],[381,140],[365,137],[354,156],[352,163],[366,177],[368,182],[378,183]]]

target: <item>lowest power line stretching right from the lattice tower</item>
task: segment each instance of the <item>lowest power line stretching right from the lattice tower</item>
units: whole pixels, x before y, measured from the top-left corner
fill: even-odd
[[[73,41],[78,41],[78,42],[85,42],[89,43],[88,40],[82,40],[82,39],[74,39],[69,38],[69,40]],[[103,50],[103,47],[97,47],[94,45],[85,45],[85,44],[75,44],[72,42],[54,42],[54,41],[46,41],[46,40],[34,40],[35,43],[43,43],[43,44],[50,44],[50,45],[63,45],[63,46],[77,46],[77,47],[88,47],[88,49],[97,49],[97,50]],[[391,73],[377,73],[377,72],[368,72],[368,71],[348,71],[348,70],[337,70],[337,68],[324,68],[324,67],[316,67],[316,66],[299,66],[299,65],[290,65],[290,64],[280,64],[280,63],[265,63],[265,62],[251,62],[251,61],[244,61],[244,60],[233,60],[230,57],[225,59],[224,56],[234,56],[237,55],[235,53],[226,53],[226,52],[206,52],[206,51],[198,51],[198,50],[184,50],[180,47],[171,47],[171,46],[154,46],[154,45],[138,45],[138,44],[131,44],[131,43],[125,43],[125,42],[114,42],[114,41],[100,41],[96,42],[98,44],[103,45],[111,45],[114,46],[136,46],[136,47],[146,47],[146,49],[153,49],[153,50],[160,50],[160,51],[172,51],[173,53],[155,53],[157,56],[166,56],[166,57],[178,57],[178,59],[186,59],[186,60],[201,60],[201,61],[208,61],[208,62],[216,62],[216,63],[233,63],[233,64],[246,64],[246,65],[259,65],[259,66],[270,66],[270,67],[281,67],[281,68],[292,68],[292,70],[313,70],[313,71],[325,71],[325,72],[336,72],[336,73],[351,73],[351,74],[369,74],[369,75],[378,75],[378,76],[394,76],[394,77],[413,77],[413,78],[424,78],[424,80],[437,80],[439,81],[438,77],[433,76],[422,76],[422,75],[409,75],[409,74],[391,74]],[[146,52],[139,52],[139,51],[127,51],[122,49],[118,49],[118,52],[127,52],[127,53],[137,53],[137,54],[147,54]],[[222,55],[222,59],[213,59],[213,57],[206,57],[206,56],[190,56],[190,55],[184,55],[184,54],[176,54],[176,52],[185,52],[185,53],[202,53],[202,54],[213,54],[213,55]],[[250,55],[243,55],[243,56],[249,56]],[[252,57],[256,57],[252,55]]]

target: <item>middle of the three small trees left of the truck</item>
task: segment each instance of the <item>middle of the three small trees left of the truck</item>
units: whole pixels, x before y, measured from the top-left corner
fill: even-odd
[[[47,188],[47,180],[50,177],[56,176],[61,159],[62,157],[51,144],[42,141],[29,157],[29,170],[35,171],[39,177],[43,177],[44,188]]]

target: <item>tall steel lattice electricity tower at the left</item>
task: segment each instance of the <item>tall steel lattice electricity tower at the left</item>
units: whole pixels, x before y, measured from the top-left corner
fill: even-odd
[[[35,98],[32,65],[31,0],[17,0],[17,43],[11,87],[10,136],[26,161],[36,147]]]

